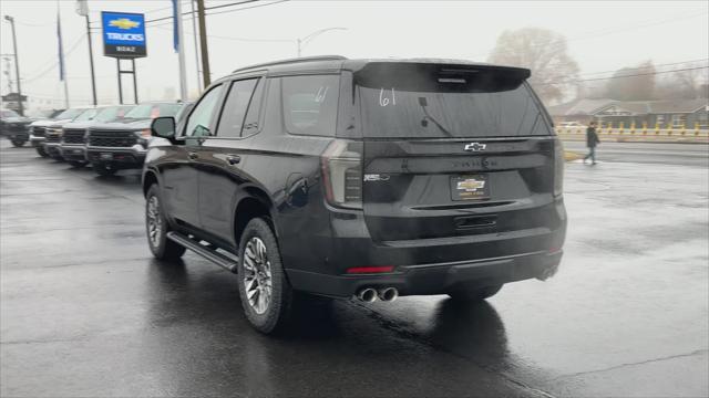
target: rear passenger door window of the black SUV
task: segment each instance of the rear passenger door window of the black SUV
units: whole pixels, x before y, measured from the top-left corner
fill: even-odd
[[[251,94],[258,80],[249,78],[236,81],[229,88],[229,94],[224,102],[224,109],[217,127],[219,137],[239,137],[245,127],[246,109],[251,101]]]

